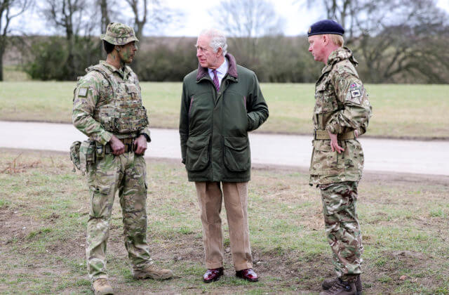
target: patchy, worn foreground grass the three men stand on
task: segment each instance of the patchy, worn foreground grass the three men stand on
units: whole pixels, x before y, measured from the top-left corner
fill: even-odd
[[[83,176],[72,172],[66,154],[0,152],[0,293],[89,294],[84,259],[88,190]],[[253,170],[248,214],[261,280],[248,283],[234,277],[224,220],[225,277],[204,284],[194,185],[180,164],[154,159],[147,164],[152,257],[176,277],[164,282],[132,279],[116,200],[108,244],[116,291],[316,294],[321,280],[333,276],[319,192],[307,185],[306,174]],[[358,202],[364,294],[449,293],[448,183],[447,178],[364,177]]]

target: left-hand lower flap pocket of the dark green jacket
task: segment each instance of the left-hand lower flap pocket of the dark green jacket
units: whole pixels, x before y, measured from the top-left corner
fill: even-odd
[[[209,164],[210,136],[190,136],[187,140],[185,167],[188,171],[201,171]]]

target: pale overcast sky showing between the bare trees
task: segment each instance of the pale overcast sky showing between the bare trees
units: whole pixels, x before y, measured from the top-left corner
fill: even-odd
[[[39,0],[36,0],[39,4]],[[311,23],[324,17],[323,14],[315,10],[309,10],[302,4],[298,4],[295,0],[269,0],[272,1],[274,7],[286,20],[284,34],[287,36],[296,36],[305,34]],[[201,29],[208,25],[215,26],[213,19],[210,18],[208,11],[215,8],[219,3],[218,0],[162,0],[163,4],[170,8],[178,9],[184,13],[184,18],[177,27],[169,26],[161,32],[166,36],[196,36]],[[437,5],[449,13],[449,0],[438,0]],[[20,27],[27,34],[53,34],[51,29],[46,27],[46,22],[38,13],[32,11],[16,18],[12,26]]]

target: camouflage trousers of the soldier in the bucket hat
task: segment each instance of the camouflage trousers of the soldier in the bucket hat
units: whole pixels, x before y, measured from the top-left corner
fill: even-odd
[[[106,246],[116,191],[123,214],[123,237],[133,268],[151,263],[147,244],[147,167],[142,156],[126,152],[105,155],[88,166],[91,210],[87,223],[86,258],[91,281],[107,278]]]

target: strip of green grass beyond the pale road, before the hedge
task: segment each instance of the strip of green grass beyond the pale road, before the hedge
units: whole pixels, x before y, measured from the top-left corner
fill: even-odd
[[[74,82],[0,83],[0,119],[71,122]],[[177,128],[180,83],[143,82],[152,127]],[[311,133],[313,84],[262,84],[269,119],[259,131]],[[373,105],[367,136],[449,138],[449,85],[367,85]]]

